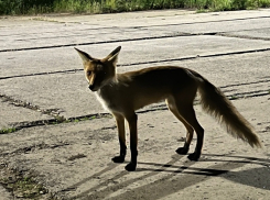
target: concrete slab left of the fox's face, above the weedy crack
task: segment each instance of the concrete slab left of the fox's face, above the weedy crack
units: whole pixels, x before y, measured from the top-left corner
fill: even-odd
[[[13,87],[7,87],[13,82]],[[1,91],[14,99],[32,102],[41,109],[57,110],[66,118],[100,112],[101,107],[87,88],[83,71],[33,76],[0,81]],[[20,91],[20,92],[19,92]]]

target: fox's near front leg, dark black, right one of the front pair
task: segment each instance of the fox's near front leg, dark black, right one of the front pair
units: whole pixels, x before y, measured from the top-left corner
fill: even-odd
[[[126,166],[126,170],[132,171],[136,170],[137,167],[137,145],[138,145],[138,132],[137,132],[137,114],[132,113],[131,115],[126,116],[128,123],[129,123],[129,130],[130,130],[130,152],[131,152],[131,160]]]

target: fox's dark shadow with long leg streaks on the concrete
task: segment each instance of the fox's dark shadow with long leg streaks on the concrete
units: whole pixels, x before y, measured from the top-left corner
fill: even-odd
[[[198,168],[198,167],[193,167],[193,165],[196,164],[195,162],[186,162],[184,163],[184,166],[175,165],[176,162],[179,162],[182,157],[183,156],[174,155],[172,156],[172,159],[166,164],[140,162],[138,163],[139,165],[137,171],[149,171],[148,174],[125,181],[118,181],[119,178],[129,174],[122,170],[119,174],[115,175],[114,178],[111,178],[115,182],[117,182],[116,185],[104,188],[104,186],[106,186],[107,182],[107,180],[105,180],[98,186],[89,188],[88,190],[77,195],[76,197],[73,197],[72,199],[82,199],[82,198],[91,199],[94,197],[98,197],[102,199],[106,196],[109,196],[110,193],[114,193],[119,189],[126,188],[127,186],[138,180],[143,180],[149,177],[153,177],[160,174],[161,171],[168,173],[168,175],[162,177],[162,180],[156,180],[154,182],[137,187],[132,189],[132,191],[127,190],[126,192],[120,193],[117,197],[110,199],[138,198],[134,197],[137,193],[138,195],[143,193],[143,199],[158,199],[177,192],[186,187],[197,185],[202,181],[210,179],[213,176],[219,176],[241,185],[270,190],[270,180],[269,180],[270,159],[262,159],[256,157],[241,157],[241,156],[233,156],[233,155],[224,156],[224,155],[204,154],[205,158],[201,159],[199,162],[210,162],[213,163],[213,165],[207,168]],[[213,157],[217,157],[217,158],[213,158]],[[226,159],[223,159],[223,157]],[[255,164],[257,165],[257,168],[234,171],[234,169],[244,167],[247,164]],[[106,169],[97,173],[96,175],[101,175],[104,173],[107,173],[114,169],[115,167],[117,167],[116,164],[109,164]],[[177,175],[181,176],[177,177]],[[77,188],[80,185],[90,181],[94,176],[88,177],[82,180],[80,182],[75,184],[74,186],[72,186],[72,188]],[[149,192],[145,192],[145,190],[148,190]],[[154,193],[151,191],[154,191]]]

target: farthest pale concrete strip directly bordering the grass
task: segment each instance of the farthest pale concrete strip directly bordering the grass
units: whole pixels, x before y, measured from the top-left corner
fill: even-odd
[[[139,11],[101,15],[45,15],[36,20],[60,23],[91,24],[106,27],[156,26],[168,24],[199,23],[209,21],[231,21],[237,19],[266,18],[269,9],[242,10],[237,12],[208,12],[170,9],[156,11]]]

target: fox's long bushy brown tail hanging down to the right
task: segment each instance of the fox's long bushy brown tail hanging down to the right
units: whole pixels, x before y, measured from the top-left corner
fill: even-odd
[[[203,109],[225,125],[234,137],[241,138],[252,147],[261,147],[252,125],[237,111],[228,98],[207,79],[198,74],[195,76],[203,80],[199,81],[198,87]]]

